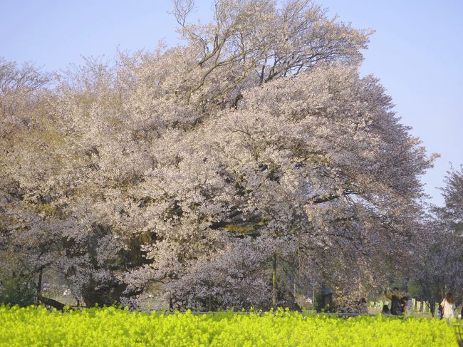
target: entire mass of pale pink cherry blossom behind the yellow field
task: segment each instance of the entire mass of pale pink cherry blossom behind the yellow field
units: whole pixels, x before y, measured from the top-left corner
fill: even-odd
[[[88,306],[153,282],[181,308],[285,304],[281,264],[345,296],[381,285],[413,256],[433,157],[359,76],[371,31],[311,1],[193,8],[175,1],[183,46],[0,95],[2,252]]]

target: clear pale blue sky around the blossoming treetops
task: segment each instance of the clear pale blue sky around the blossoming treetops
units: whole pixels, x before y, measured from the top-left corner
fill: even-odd
[[[449,162],[463,164],[463,0],[318,0],[340,20],[375,29],[361,72],[373,73],[392,95],[402,123],[429,153],[442,155],[424,177],[432,202]],[[197,1],[207,21],[209,0]],[[46,71],[113,58],[116,49],[175,45],[170,0],[0,0],[0,56],[34,61]]]

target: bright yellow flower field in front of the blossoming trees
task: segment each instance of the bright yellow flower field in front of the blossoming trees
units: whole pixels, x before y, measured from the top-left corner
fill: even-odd
[[[0,307],[0,346],[457,346],[446,321],[275,313],[66,313]]]

